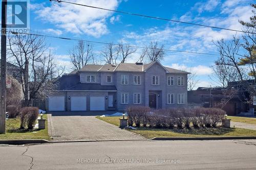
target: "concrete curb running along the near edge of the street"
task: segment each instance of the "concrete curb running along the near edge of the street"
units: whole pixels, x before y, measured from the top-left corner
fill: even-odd
[[[153,141],[153,140],[236,140],[256,139],[256,136],[222,136],[222,137],[154,137],[152,139],[102,139],[102,140],[55,140],[24,139],[24,140],[0,140],[0,144],[38,144],[38,143],[70,143],[70,142],[99,142],[99,141]]]

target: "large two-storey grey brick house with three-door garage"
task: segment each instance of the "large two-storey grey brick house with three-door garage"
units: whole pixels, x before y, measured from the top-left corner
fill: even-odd
[[[127,106],[187,106],[187,74],[159,62],[86,65],[59,79],[50,111],[125,110]]]

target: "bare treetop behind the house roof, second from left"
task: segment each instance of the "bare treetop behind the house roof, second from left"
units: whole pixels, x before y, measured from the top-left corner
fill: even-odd
[[[117,64],[119,48],[115,46],[113,43],[109,43],[101,51],[101,56],[103,57],[104,62],[108,64]]]

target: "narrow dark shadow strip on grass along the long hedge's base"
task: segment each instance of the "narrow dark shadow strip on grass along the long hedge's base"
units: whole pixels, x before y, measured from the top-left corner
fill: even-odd
[[[199,128],[199,129],[151,129],[151,128],[137,128],[137,130],[147,130],[147,131],[166,131],[174,132],[181,134],[190,134],[190,135],[224,135],[230,132],[233,132],[232,128]]]

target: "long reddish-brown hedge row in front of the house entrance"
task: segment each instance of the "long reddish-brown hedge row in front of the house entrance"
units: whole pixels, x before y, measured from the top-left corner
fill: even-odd
[[[204,128],[217,127],[226,112],[219,108],[174,108],[151,111],[149,107],[127,108],[128,124],[149,128]]]

